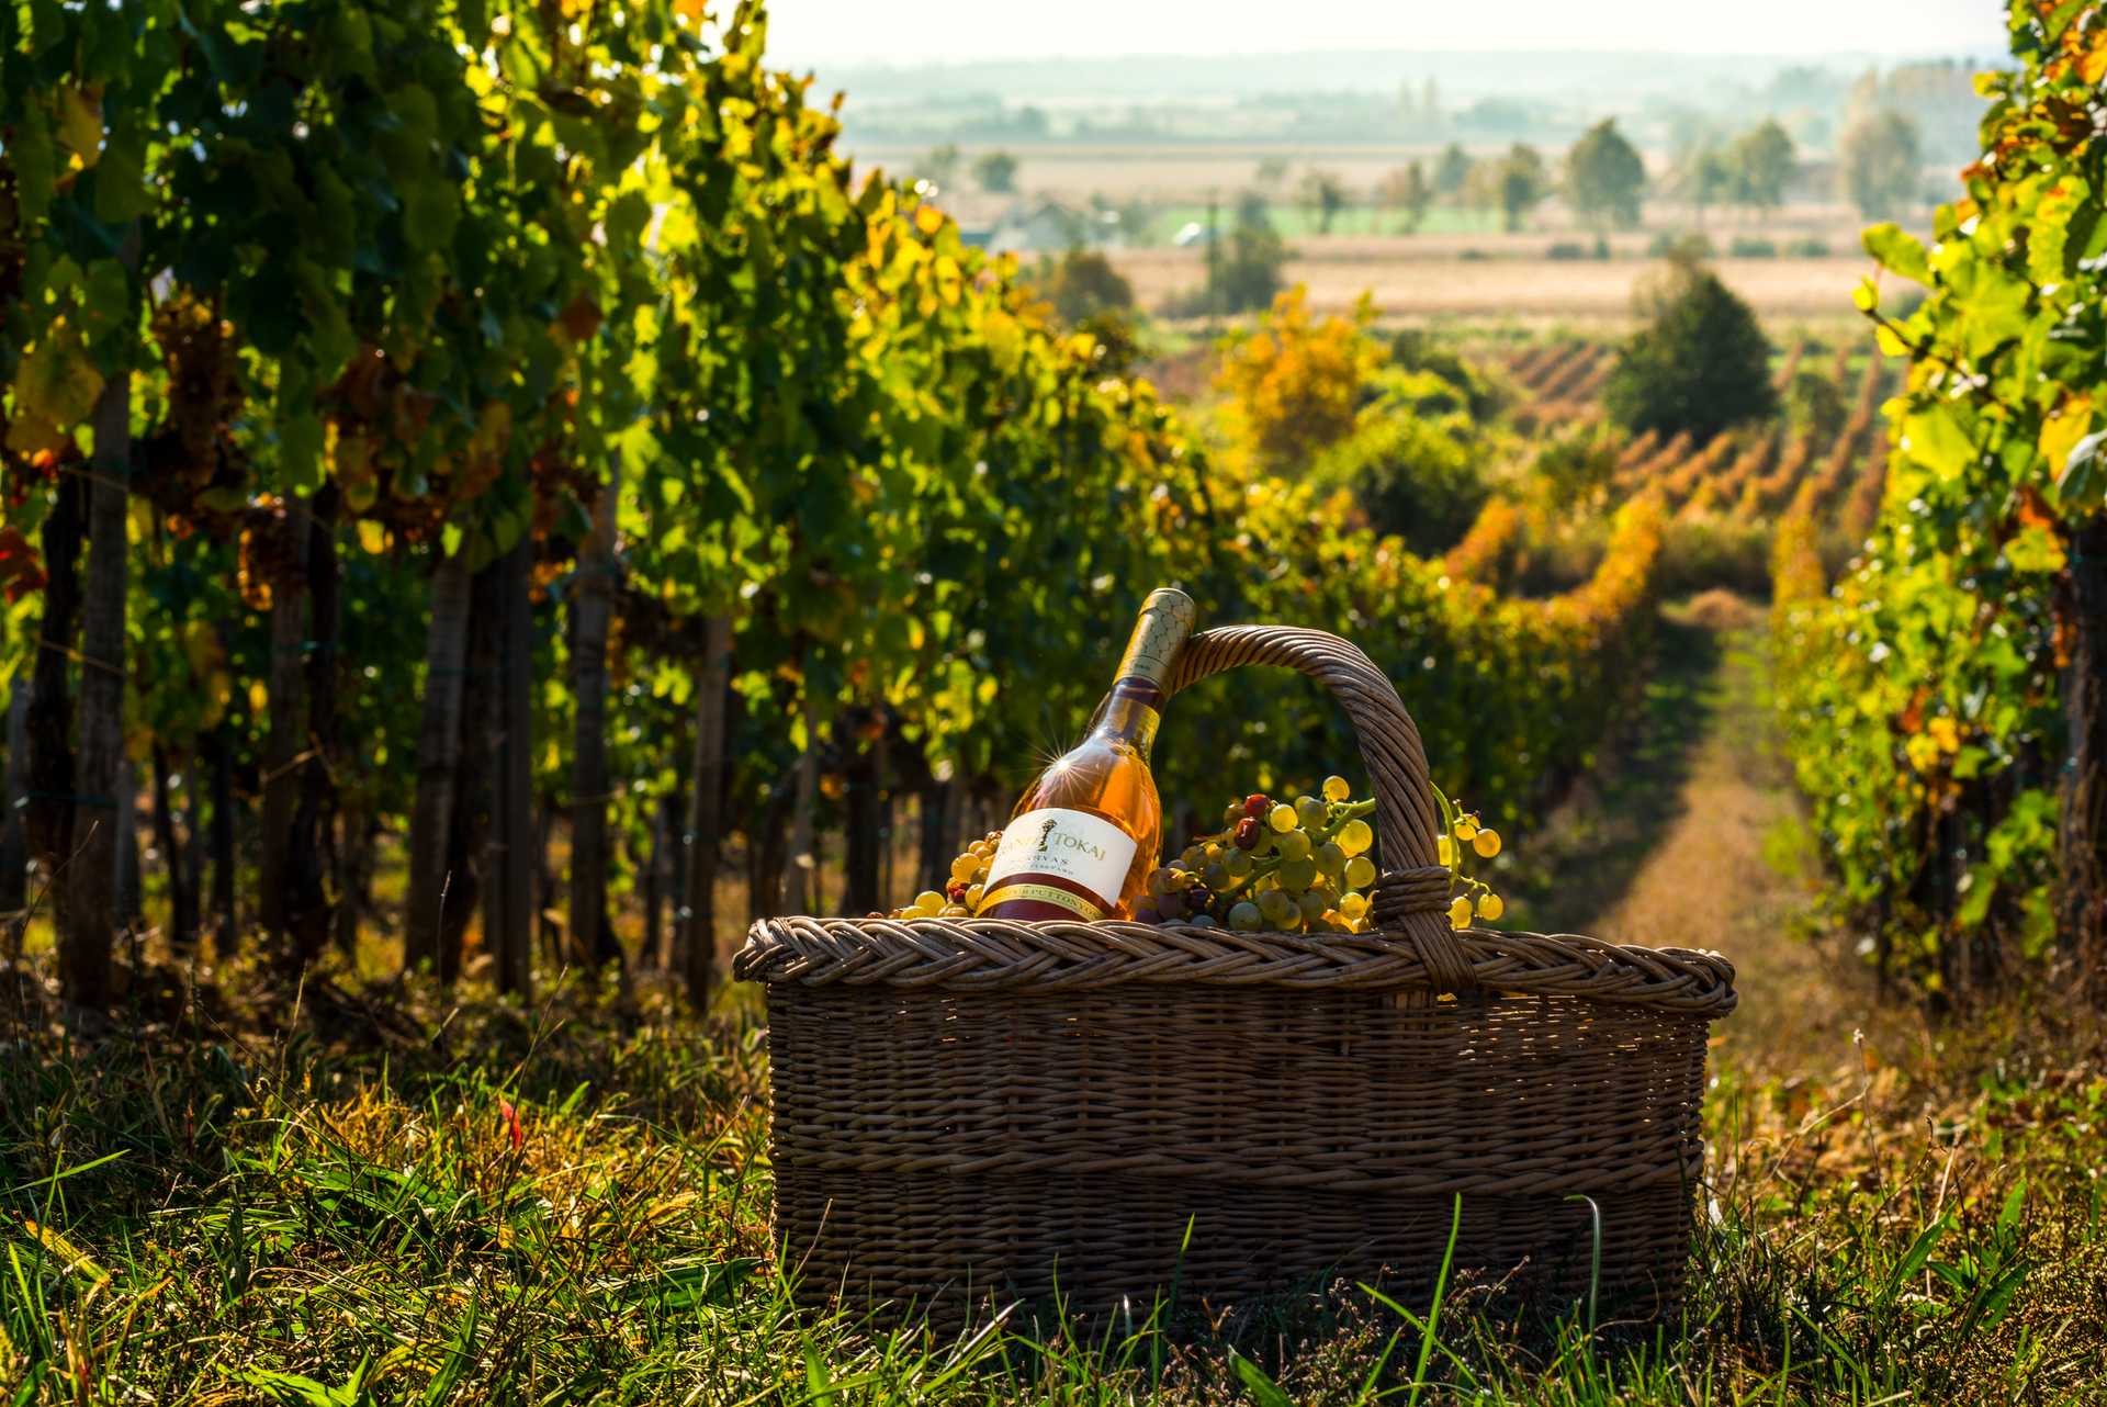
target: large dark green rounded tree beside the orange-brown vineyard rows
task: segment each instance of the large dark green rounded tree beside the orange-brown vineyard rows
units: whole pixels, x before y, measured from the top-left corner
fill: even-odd
[[[1770,343],[1755,312],[1692,259],[1646,291],[1646,324],[1618,352],[1603,404],[1633,434],[1711,440],[1778,409]]]

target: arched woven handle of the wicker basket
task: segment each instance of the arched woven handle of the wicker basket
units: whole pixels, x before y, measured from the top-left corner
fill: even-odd
[[[1186,640],[1167,693],[1245,663],[1308,674],[1346,710],[1376,788],[1376,845],[1384,870],[1372,897],[1376,927],[1418,950],[1435,988],[1475,990],[1471,960],[1443,912],[1450,872],[1435,857],[1441,811],[1426,773],[1426,748],[1397,689],[1361,647],[1323,630],[1220,626]]]

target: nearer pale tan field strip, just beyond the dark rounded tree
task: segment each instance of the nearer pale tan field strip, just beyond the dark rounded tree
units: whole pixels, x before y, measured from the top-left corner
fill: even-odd
[[[1549,259],[1542,253],[1464,259],[1462,249],[1437,253],[1424,246],[1431,242],[1302,240],[1285,276],[1308,284],[1315,308],[1351,308],[1365,291],[1389,316],[1624,318],[1635,284],[1656,265],[1639,257]],[[1534,244],[1544,249],[1542,240]],[[1850,244],[1831,249],[1850,251]],[[1197,249],[1117,251],[1112,261],[1148,310],[1205,282]],[[1856,253],[1717,259],[1713,267],[1766,318],[1823,318],[1850,316],[1852,284],[1871,270],[1871,259]]]

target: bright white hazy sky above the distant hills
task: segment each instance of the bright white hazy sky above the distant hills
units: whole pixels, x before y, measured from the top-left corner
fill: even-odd
[[[788,65],[1311,48],[2006,51],[1997,0],[773,0],[769,13],[769,51]]]

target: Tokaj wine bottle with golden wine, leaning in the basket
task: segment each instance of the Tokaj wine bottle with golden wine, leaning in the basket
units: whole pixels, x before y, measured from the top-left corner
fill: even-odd
[[[976,916],[1089,923],[1131,914],[1163,849],[1148,748],[1193,617],[1184,592],[1148,592],[1089,735],[1039,773],[1009,815]]]

